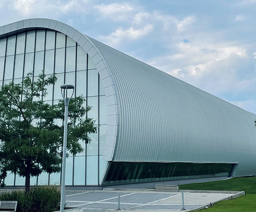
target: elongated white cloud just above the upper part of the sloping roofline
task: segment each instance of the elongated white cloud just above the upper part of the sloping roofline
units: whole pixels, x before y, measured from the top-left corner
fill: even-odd
[[[115,32],[111,33],[111,35],[101,36],[100,39],[108,45],[115,47],[123,40],[136,40],[142,36],[145,36],[150,33],[152,29],[153,26],[151,24],[146,25],[142,29],[134,29],[134,27],[122,29],[122,27],[120,27],[116,29]]]

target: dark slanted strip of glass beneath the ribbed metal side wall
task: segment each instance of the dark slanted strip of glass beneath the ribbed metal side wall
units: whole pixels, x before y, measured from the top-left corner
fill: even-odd
[[[232,164],[110,162],[103,185],[228,176]]]

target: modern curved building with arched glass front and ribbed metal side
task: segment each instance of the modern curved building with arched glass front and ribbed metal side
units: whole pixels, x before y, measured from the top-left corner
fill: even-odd
[[[67,158],[66,185],[112,185],[256,174],[256,115],[140,62],[59,21],[0,27],[0,84],[33,71],[58,81],[43,100],[75,85],[93,109],[97,134]],[[31,184],[60,182],[43,173]],[[7,185],[24,185],[9,174]]]

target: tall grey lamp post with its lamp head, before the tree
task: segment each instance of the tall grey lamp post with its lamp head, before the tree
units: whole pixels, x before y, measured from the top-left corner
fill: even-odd
[[[64,211],[64,202],[65,202],[65,174],[66,174],[66,154],[67,154],[67,114],[68,114],[68,105],[69,101],[72,98],[74,94],[74,86],[73,85],[68,85],[64,84],[61,85],[61,94],[64,100],[64,105],[65,105],[65,115],[64,115],[64,135],[63,135],[63,148],[62,148],[62,171],[61,171],[61,207],[60,211]],[[72,94],[70,95],[67,94],[68,91],[71,91]]]

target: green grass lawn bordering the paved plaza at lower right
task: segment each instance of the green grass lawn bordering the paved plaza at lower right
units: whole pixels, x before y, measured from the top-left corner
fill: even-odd
[[[180,189],[245,191],[246,195],[220,201],[203,212],[256,212],[256,177],[236,177],[229,180],[180,185]]]

